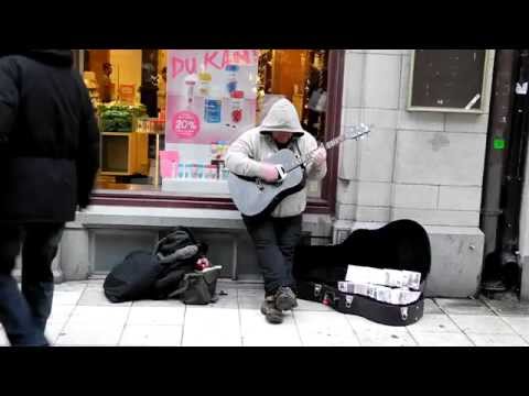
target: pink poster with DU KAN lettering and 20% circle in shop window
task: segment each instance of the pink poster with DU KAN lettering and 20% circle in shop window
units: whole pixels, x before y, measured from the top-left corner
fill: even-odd
[[[171,50],[165,143],[231,142],[256,124],[257,50]]]

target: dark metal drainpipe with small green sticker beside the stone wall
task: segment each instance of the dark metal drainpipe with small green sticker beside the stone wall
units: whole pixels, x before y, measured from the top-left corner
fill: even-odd
[[[479,228],[485,234],[483,280],[497,277],[500,267],[498,222],[501,213],[501,182],[507,155],[505,150],[498,147],[501,146],[501,142],[509,141],[518,57],[519,53],[515,50],[496,51],[479,218]]]

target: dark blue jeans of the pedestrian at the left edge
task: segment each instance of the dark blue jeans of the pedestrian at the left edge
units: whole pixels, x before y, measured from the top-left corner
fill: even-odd
[[[0,224],[0,322],[11,345],[45,345],[52,310],[52,261],[64,223]],[[22,294],[11,273],[22,248]]]

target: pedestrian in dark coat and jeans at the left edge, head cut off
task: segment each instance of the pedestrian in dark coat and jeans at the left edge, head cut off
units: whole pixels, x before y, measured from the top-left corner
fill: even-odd
[[[99,130],[69,50],[0,54],[0,322],[11,345],[47,345],[51,270],[86,208]],[[22,294],[11,273],[22,245]]]

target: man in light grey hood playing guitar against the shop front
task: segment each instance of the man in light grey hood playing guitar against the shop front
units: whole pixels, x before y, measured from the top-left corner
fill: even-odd
[[[278,100],[259,127],[245,132],[231,143],[226,166],[236,175],[273,184],[282,178],[282,169],[264,160],[283,148],[291,150],[300,157],[312,152],[312,162],[304,168],[305,176],[314,180],[325,176],[326,151],[319,148],[316,140],[301,128],[298,112],[287,99]],[[284,197],[263,217],[242,215],[264,279],[261,312],[270,323],[281,323],[283,311],[298,306],[292,260],[301,238],[305,207],[306,188],[303,187]]]

